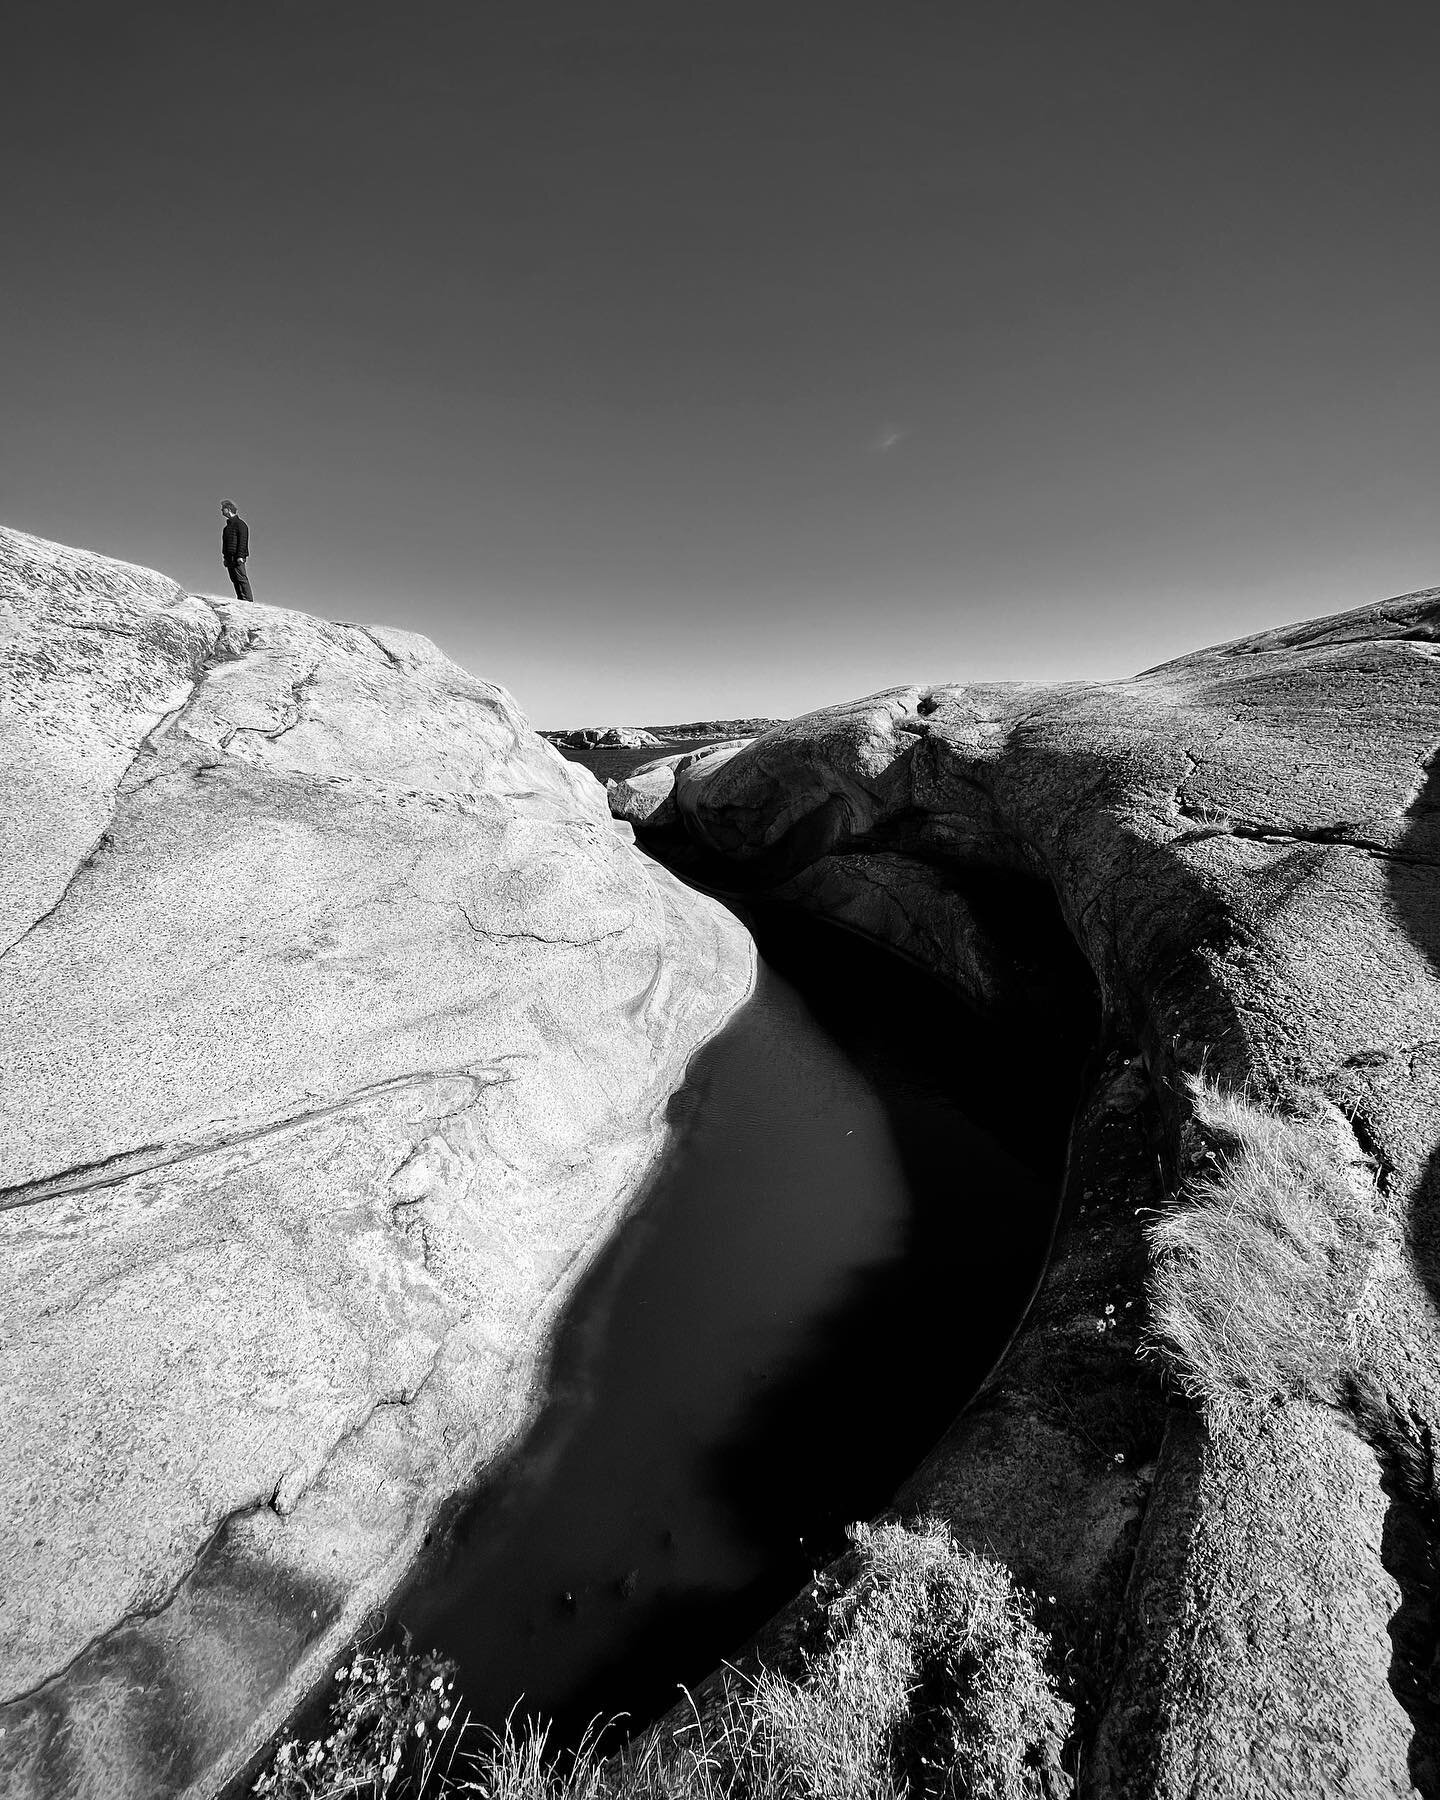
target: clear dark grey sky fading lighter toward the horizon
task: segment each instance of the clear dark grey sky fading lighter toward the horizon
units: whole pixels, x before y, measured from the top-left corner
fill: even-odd
[[[0,522],[540,727],[1440,583],[1440,7],[11,0]]]

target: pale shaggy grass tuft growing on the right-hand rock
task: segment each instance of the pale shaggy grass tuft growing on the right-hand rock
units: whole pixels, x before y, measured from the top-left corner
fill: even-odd
[[[1318,1123],[1192,1082],[1208,1174],[1148,1226],[1150,1319],[1193,1399],[1217,1415],[1334,1400],[1368,1260],[1366,1197]]]

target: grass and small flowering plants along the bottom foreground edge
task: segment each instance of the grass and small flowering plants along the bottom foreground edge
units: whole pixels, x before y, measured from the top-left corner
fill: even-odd
[[[679,1730],[648,1733],[608,1757],[596,1733],[553,1753],[535,1721],[490,1732],[455,1719],[448,1676],[434,1660],[423,1669],[410,1660],[418,1676],[407,1697],[405,1660],[392,1658],[387,1699],[376,1706],[371,1663],[353,1658],[329,1733],[308,1746],[283,1744],[256,1793],[272,1800],[1037,1800],[1057,1791],[1071,1715],[1046,1674],[1048,1642],[1008,1571],[959,1550],[932,1523],[855,1526],[851,1537],[841,1577],[823,1586],[815,1640],[794,1676],[731,1672],[722,1697]],[[365,1676],[358,1687],[356,1663]],[[367,1762],[365,1746],[383,1760]]]

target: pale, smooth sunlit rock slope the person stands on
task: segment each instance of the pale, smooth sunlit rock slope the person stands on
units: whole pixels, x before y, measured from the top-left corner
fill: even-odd
[[[538,1399],[722,907],[425,639],[0,531],[0,1787],[212,1793]]]

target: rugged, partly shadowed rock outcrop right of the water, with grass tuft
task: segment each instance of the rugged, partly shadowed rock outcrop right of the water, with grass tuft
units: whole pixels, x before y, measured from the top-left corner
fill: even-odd
[[[1440,1793],[1438,754],[1433,590],[612,788],[677,866],[979,1006],[1022,947],[977,873],[1053,895],[1094,974],[1051,1273],[900,1496],[1039,1595],[1084,1793]]]

